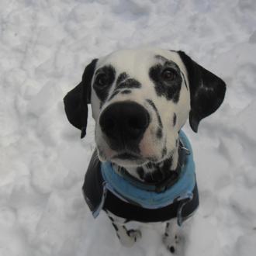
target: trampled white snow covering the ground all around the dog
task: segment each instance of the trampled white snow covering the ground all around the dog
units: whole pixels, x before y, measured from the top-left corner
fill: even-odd
[[[256,1],[1,0],[0,255],[169,255],[157,227],[132,248],[81,185],[94,121],[80,140],[62,99],[94,57],[151,45],[185,50],[227,82],[223,106],[195,134],[200,207],[187,256],[256,251]]]

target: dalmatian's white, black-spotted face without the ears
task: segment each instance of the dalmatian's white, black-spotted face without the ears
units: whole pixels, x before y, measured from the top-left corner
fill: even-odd
[[[190,110],[185,75],[171,51],[120,50],[99,59],[91,99],[101,161],[140,165],[174,154]]]

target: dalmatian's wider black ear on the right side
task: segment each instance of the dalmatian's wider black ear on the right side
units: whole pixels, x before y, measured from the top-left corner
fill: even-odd
[[[185,64],[189,77],[191,100],[189,123],[192,130],[197,133],[201,119],[215,112],[223,102],[226,84],[215,74],[195,63],[183,51],[178,51],[178,54]]]

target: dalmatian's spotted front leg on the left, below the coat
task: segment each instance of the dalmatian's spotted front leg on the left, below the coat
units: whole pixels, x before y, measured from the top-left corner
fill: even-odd
[[[127,230],[126,226],[123,224],[125,222],[123,218],[114,216],[109,212],[107,214],[112,222],[112,226],[116,230],[116,236],[123,246],[132,247],[133,244],[141,238],[140,230]]]

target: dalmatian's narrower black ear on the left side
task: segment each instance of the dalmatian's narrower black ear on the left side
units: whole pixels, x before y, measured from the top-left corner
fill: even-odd
[[[87,67],[82,76],[81,83],[77,85],[64,97],[64,108],[68,121],[81,130],[81,138],[85,137],[88,106],[91,102],[91,82],[95,71],[97,59],[93,60]]]

